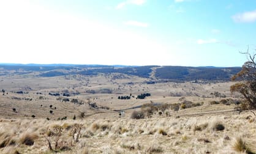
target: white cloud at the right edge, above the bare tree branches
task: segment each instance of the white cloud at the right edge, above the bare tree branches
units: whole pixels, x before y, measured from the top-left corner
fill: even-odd
[[[238,13],[233,15],[232,19],[237,23],[252,23],[256,21],[256,10]]]

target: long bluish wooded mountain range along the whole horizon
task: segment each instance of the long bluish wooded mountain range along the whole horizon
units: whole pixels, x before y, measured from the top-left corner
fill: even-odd
[[[124,73],[141,78],[166,81],[228,81],[241,67],[182,67],[182,66],[126,66],[126,65],[76,65],[76,64],[0,64],[0,75],[39,71],[43,77],[62,75],[97,75],[99,73]],[[10,71],[12,70],[12,71]]]

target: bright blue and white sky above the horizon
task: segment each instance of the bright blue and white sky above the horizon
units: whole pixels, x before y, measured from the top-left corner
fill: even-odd
[[[0,63],[240,67],[256,0],[0,1]]]

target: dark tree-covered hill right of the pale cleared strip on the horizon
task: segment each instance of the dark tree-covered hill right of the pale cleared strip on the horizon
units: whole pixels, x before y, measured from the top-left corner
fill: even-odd
[[[157,68],[156,78],[173,79],[179,81],[222,80],[228,81],[232,75],[241,70],[240,67],[172,67],[165,66]]]

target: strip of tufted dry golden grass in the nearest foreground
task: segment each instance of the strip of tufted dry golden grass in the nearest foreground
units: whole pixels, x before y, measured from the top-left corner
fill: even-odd
[[[63,128],[59,143],[63,144],[65,149],[58,150],[59,153],[232,153],[238,149],[241,149],[241,152],[254,152],[256,149],[250,144],[233,141],[238,136],[243,136],[243,141],[248,143],[256,141],[256,123],[246,120],[246,117],[251,115],[250,112],[232,114],[140,120],[88,118],[78,121],[24,119],[11,122],[12,120],[2,119],[1,128],[11,128],[10,132],[16,133],[8,135],[9,131],[6,129],[4,133],[1,131],[0,138],[7,139],[11,136],[14,144],[6,144],[0,149],[0,153],[15,150],[20,153],[51,153],[44,134],[53,128]],[[213,129],[219,123],[225,123],[224,130]],[[67,125],[71,127],[69,130],[65,129]],[[70,135],[75,125],[83,126],[78,142]],[[196,126],[200,127],[200,131],[194,130]],[[33,146],[21,144],[27,138],[33,139]],[[250,147],[250,150],[247,147]]]

